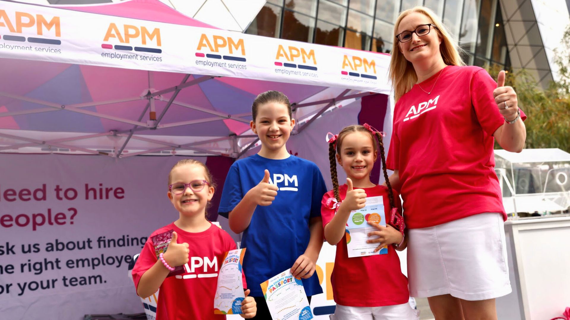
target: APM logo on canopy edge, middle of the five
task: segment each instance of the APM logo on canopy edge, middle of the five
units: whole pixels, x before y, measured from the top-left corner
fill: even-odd
[[[196,52],[196,56],[210,59],[246,61],[246,58],[243,58],[246,55],[243,39],[236,41],[231,36],[212,35],[209,37],[207,34],[202,34],[196,50],[201,51],[204,49],[209,50],[210,53]],[[236,56],[238,54],[241,56]]]

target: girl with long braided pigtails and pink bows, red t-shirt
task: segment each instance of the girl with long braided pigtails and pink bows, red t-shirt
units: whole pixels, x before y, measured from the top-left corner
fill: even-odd
[[[394,195],[386,173],[382,134],[367,124],[352,125],[331,138],[327,136],[327,141],[333,190],[323,196],[321,216],[325,240],[336,245],[331,276],[336,310],[331,319],[418,319],[417,311],[408,304],[408,279],[401,272],[396,253],[396,249],[406,247],[403,232],[390,224],[384,227],[368,221],[376,231],[368,233],[367,243],[378,244],[374,252],[387,247],[387,253],[348,257],[347,243],[351,238],[345,226],[351,211],[364,208],[367,196],[382,197],[385,221],[390,220],[392,208],[401,210],[400,202],[394,201],[398,195]],[[378,150],[387,186],[370,181]],[[337,162],[347,174],[347,183],[342,186],[337,179]]]

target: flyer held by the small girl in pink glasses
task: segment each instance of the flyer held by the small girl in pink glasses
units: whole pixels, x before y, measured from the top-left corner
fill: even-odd
[[[243,294],[242,264],[246,248],[226,252],[218,274],[214,314],[241,314]]]

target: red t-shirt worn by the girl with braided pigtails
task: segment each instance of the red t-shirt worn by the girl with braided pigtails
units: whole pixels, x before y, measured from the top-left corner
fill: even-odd
[[[388,188],[376,186],[364,188],[367,196],[384,197],[386,220],[390,218]],[[347,185],[339,187],[340,199],[347,195]],[[328,199],[335,198],[334,192],[328,191],[321,202],[323,229],[335,216],[336,209],[331,209]],[[394,191],[396,206],[400,207],[398,194]],[[401,305],[409,300],[408,278],[402,274],[400,259],[392,245],[386,255],[366,257],[348,257],[347,236],[336,245],[335,268],[331,276],[332,293],[335,302],[351,307],[379,307]]]

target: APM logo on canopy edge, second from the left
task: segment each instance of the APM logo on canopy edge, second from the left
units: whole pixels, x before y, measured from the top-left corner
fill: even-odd
[[[162,49],[160,48],[151,48],[146,47],[148,44],[154,44],[156,47],[160,47],[162,45],[160,40],[160,28],[154,28],[152,31],[149,31],[146,27],[141,26],[132,26],[131,24],[124,24],[122,28],[117,27],[115,23],[109,23],[109,27],[107,28],[107,32],[105,33],[105,38],[103,38],[104,42],[109,42],[111,38],[115,38],[121,44],[109,44],[103,43],[101,44],[101,48],[103,49],[115,49],[115,50],[125,50],[125,51],[139,51],[139,52],[150,52],[153,54],[161,54]],[[130,46],[131,43],[140,43],[142,46],[145,47],[134,47]]]

